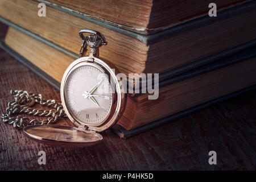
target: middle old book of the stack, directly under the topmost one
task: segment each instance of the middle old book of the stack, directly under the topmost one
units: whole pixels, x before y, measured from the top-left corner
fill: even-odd
[[[39,17],[38,2],[28,0],[1,0],[0,20],[74,59],[81,46],[77,32],[82,28],[97,30],[108,41],[108,46],[101,47],[100,57],[112,61],[122,73],[164,74],[255,41],[255,3],[244,3],[221,11],[217,17],[206,16],[152,35],[92,22],[52,6],[47,6],[46,17]]]

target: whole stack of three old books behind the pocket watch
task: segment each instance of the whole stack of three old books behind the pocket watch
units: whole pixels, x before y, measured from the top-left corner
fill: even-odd
[[[120,72],[159,73],[159,97],[128,94],[113,127],[122,138],[141,133],[254,89],[256,2],[0,0],[9,26],[2,47],[59,89],[78,58],[81,29],[101,32],[100,57]],[[45,3],[46,16],[39,16]]]

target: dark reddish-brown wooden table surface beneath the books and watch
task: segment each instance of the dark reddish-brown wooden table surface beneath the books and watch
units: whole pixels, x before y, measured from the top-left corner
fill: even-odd
[[[42,93],[60,100],[60,93],[0,49],[0,112],[12,98],[10,89]],[[175,122],[129,139],[112,131],[104,142],[89,148],[45,146],[22,131],[0,122],[0,169],[28,170],[187,170],[254,169],[256,166],[256,91],[214,105]],[[68,119],[58,125],[71,125]],[[46,152],[46,165],[38,152]],[[217,165],[209,165],[209,151]]]

